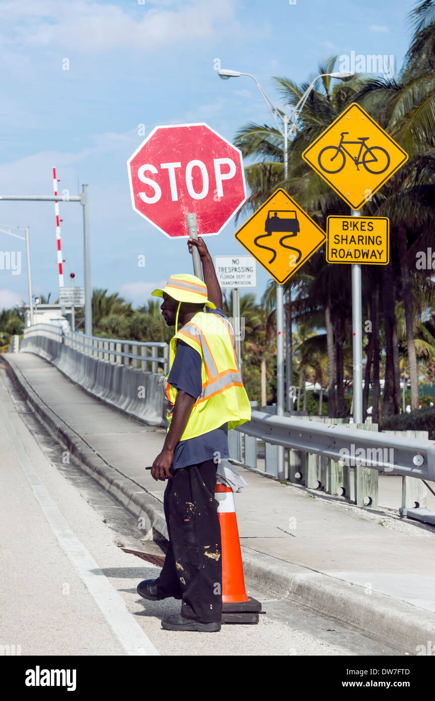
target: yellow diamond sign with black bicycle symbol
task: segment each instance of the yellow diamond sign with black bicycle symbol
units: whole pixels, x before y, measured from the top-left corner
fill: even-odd
[[[352,209],[359,210],[408,160],[408,154],[353,102],[302,158]]]

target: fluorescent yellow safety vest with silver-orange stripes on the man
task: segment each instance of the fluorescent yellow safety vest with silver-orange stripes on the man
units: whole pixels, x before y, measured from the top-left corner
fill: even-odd
[[[218,314],[198,312],[170,341],[170,369],[174,362],[177,339],[194,348],[201,356],[202,393],[193,404],[191,416],[180,440],[195,438],[219,428],[228,421],[235,428],[251,419],[251,405],[242,383],[237,362],[233,327]],[[170,429],[177,389],[166,380],[170,402],[167,421]]]

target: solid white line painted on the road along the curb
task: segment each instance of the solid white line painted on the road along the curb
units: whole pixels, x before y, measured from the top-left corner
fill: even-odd
[[[109,623],[127,655],[160,655],[149,637],[141,629],[139,623],[134,620],[132,614],[127,610],[120,594],[111,585],[104,572],[99,569],[90,552],[86,550],[83,543],[71,531],[67,520],[62,516],[48,489],[30,462],[25,447],[16,433],[6,409],[1,404],[0,421],[3,423],[6,435],[13,444],[22,471],[25,473],[30,486],[32,486],[34,495],[39,501],[43,514],[53,533],[74,565],[78,576],[83,580],[92,597],[94,597],[98,608],[102,611],[104,618]]]

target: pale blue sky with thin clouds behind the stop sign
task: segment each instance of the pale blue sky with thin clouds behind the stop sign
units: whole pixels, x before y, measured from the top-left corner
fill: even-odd
[[[207,122],[233,141],[271,117],[253,81],[221,81],[221,67],[254,74],[278,105],[272,76],[302,82],[331,55],[394,55],[409,41],[404,0],[0,0],[0,194],[89,184],[92,286],[135,306],[172,273],[192,272],[186,240],[169,240],[132,210],[127,158],[159,124]],[[65,59],[69,70],[63,70]],[[337,65],[338,69],[338,65]],[[291,193],[290,193],[291,194]],[[81,206],[60,204],[65,284],[83,285]],[[240,216],[240,226],[249,214]],[[34,293],[57,297],[53,203],[1,203],[1,224],[29,226]],[[232,220],[207,237],[214,257],[242,254]],[[18,240],[0,233],[0,251]],[[139,267],[139,254],[146,257]],[[258,266],[260,296],[268,273]],[[242,291],[243,292],[243,291]],[[248,292],[248,290],[246,290]],[[27,301],[22,273],[0,269],[0,308]]]

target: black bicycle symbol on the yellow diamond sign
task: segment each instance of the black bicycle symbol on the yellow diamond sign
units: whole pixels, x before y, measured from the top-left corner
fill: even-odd
[[[364,168],[368,170],[369,173],[372,173],[372,175],[380,175],[385,172],[389,166],[388,151],[385,151],[385,149],[382,149],[380,146],[368,147],[366,144],[367,139],[370,138],[368,136],[358,137],[357,141],[345,141],[345,134],[348,133],[349,132],[341,132],[341,139],[338,146],[326,146],[320,151],[318,157],[320,168],[326,173],[339,173],[340,170],[343,170],[345,167],[346,156],[349,156],[357,166],[357,170],[359,170],[359,165],[362,163]],[[357,158],[354,158],[354,156],[345,149],[345,145],[347,146],[348,144],[359,144],[360,148]],[[338,156],[340,156],[338,161],[333,163]],[[368,165],[369,163],[373,163],[373,165]]]

